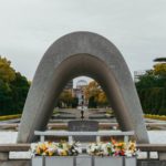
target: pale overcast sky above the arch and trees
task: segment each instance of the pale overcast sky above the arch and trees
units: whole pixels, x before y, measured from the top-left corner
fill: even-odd
[[[0,0],[0,54],[32,80],[46,49],[73,31],[111,40],[133,74],[166,56],[166,0]]]

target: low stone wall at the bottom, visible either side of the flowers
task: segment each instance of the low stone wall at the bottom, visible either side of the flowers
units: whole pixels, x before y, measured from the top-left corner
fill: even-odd
[[[139,144],[137,147],[142,152],[147,152],[149,157],[151,152],[158,153],[158,159],[138,159],[137,166],[166,166],[166,145],[165,144]],[[30,159],[11,159],[9,152],[28,152],[30,144],[2,144],[0,145],[0,166],[31,166]],[[104,166],[104,164],[103,164]]]

